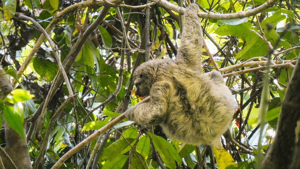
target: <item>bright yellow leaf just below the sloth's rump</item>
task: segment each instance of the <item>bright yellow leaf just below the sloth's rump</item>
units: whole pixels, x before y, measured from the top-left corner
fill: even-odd
[[[223,147],[220,151],[213,147],[213,152],[219,168],[225,168],[226,166],[233,164],[235,165],[234,159]]]

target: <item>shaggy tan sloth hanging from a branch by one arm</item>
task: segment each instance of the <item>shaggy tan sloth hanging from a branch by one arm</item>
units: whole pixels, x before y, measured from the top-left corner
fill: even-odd
[[[184,12],[175,60],[151,60],[134,72],[136,95],[149,97],[126,110],[125,116],[144,126],[160,125],[169,138],[182,143],[220,147],[220,137],[232,122],[234,101],[220,72],[202,74],[198,11],[191,4]]]

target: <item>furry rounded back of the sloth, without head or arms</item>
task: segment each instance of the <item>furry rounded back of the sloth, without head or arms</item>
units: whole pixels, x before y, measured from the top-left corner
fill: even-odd
[[[167,116],[160,125],[172,139],[215,145],[232,121],[234,103],[228,87],[193,71],[173,72]]]

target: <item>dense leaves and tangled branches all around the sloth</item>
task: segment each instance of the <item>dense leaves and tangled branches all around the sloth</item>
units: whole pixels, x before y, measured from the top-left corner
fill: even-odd
[[[261,7],[265,0],[196,1],[201,16],[211,12],[201,18],[203,34],[236,101],[221,151],[170,140],[159,126],[111,122],[142,99],[132,91],[135,68],[149,58],[175,58],[183,22],[178,6],[189,0],[0,2],[0,73],[11,82],[0,81],[1,117],[6,121],[0,143],[17,167],[22,160],[34,168],[55,163],[61,168],[115,169],[262,164],[300,52],[299,1],[268,4],[250,17],[241,11]],[[241,16],[235,19],[225,15],[237,12]],[[203,54],[203,72],[214,70],[209,52]],[[286,138],[292,144],[298,138],[296,113],[295,124],[285,124],[292,128]],[[11,154],[21,152],[18,146],[23,144],[28,145],[27,161]],[[2,148],[0,152],[2,160],[9,159]],[[7,161],[4,165],[13,166]]]

